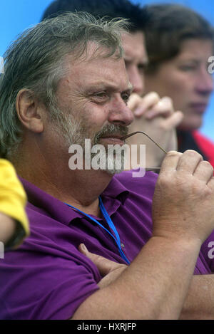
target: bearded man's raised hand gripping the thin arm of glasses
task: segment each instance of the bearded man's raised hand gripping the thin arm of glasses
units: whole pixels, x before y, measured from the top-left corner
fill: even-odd
[[[197,152],[168,152],[153,196],[153,236],[203,242],[214,229],[213,167]]]

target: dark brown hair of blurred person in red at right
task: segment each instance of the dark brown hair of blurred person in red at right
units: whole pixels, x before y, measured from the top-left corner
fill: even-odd
[[[208,39],[214,42],[213,26],[185,6],[152,5],[147,6],[147,11],[149,20],[145,35],[149,60],[146,68],[148,74],[155,73],[161,63],[177,56],[181,44],[188,38]]]

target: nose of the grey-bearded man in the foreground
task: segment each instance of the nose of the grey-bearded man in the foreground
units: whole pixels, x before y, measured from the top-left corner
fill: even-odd
[[[125,101],[121,97],[116,98],[113,101],[111,111],[108,114],[108,122],[116,125],[128,126],[133,122],[133,119],[133,113],[127,107]]]

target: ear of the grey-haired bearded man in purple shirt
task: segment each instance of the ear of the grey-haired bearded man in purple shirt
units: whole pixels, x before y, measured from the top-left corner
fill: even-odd
[[[16,112],[24,127],[36,133],[44,131],[44,110],[31,90],[19,90],[16,96]]]

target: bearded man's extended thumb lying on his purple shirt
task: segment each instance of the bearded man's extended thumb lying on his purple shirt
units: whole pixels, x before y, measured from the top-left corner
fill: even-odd
[[[78,246],[78,250],[81,251],[82,254],[86,255],[87,258],[97,266],[98,271],[102,276],[107,275],[110,271],[116,268],[116,266],[118,266],[118,263],[116,262],[105,259],[103,256],[91,253],[91,251],[88,251],[84,244],[80,244]]]

